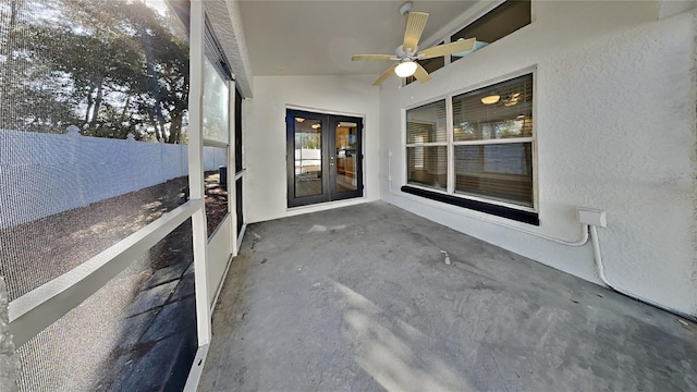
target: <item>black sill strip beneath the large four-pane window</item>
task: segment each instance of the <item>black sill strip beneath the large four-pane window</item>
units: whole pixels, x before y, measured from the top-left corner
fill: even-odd
[[[492,216],[506,218],[506,219],[511,219],[511,220],[527,223],[527,224],[533,224],[537,226],[540,225],[540,219],[537,212],[523,211],[523,210],[511,208],[511,207],[504,207],[504,206],[493,205],[489,203],[472,200],[463,197],[445,195],[442,193],[426,191],[426,189],[421,189],[421,188],[417,188],[408,185],[402,186],[401,191],[407,194],[425,197],[425,198],[440,201],[440,203],[445,203],[452,206],[463,207],[463,208],[472,209],[475,211],[485,212]]]

